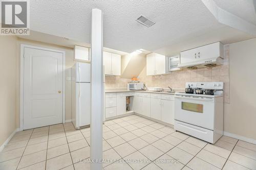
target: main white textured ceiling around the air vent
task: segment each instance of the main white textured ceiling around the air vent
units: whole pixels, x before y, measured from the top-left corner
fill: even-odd
[[[31,0],[30,8],[31,30],[85,43],[90,43],[91,10],[101,9],[104,47],[128,53],[143,48],[172,55],[196,44],[252,38],[219,23],[201,0]],[[147,28],[135,21],[141,14],[156,24]]]

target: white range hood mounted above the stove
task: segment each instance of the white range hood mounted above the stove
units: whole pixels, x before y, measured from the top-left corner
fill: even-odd
[[[200,67],[214,67],[217,65],[223,64],[223,58],[215,57],[215,58],[207,58],[202,60],[197,60],[194,62],[186,62],[178,65],[180,68],[188,68],[188,69],[196,69]]]

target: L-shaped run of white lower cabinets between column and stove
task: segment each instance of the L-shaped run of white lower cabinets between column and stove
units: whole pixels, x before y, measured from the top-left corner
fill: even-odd
[[[126,96],[133,96],[132,110],[135,113],[151,117],[174,125],[174,95],[159,93],[106,93],[105,118],[126,113]]]

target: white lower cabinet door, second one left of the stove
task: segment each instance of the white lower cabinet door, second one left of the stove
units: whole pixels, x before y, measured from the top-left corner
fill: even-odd
[[[150,117],[161,120],[161,99],[150,99]]]

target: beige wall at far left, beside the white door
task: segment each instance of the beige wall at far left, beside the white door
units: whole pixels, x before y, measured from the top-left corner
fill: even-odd
[[[0,146],[16,129],[16,37],[0,36]]]

